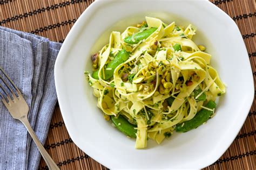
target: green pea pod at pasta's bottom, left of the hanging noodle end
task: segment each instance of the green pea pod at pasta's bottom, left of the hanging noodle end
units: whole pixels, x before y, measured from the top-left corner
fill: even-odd
[[[122,115],[119,115],[118,118],[114,116],[110,116],[110,118],[118,130],[131,138],[136,138],[137,129],[134,128],[137,126],[129,123]]]

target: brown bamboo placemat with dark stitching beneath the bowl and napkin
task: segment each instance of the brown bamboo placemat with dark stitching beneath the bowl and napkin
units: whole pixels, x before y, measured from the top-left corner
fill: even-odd
[[[0,25],[63,42],[80,14],[94,0],[0,0]],[[219,0],[211,2],[237,23],[244,38],[256,82],[256,11],[253,0]],[[254,93],[255,95],[255,93]],[[255,116],[256,102],[233,144],[223,156],[205,169],[256,169]],[[45,148],[61,169],[107,169],[73,143],[56,105]],[[46,169],[43,160],[39,169]]]

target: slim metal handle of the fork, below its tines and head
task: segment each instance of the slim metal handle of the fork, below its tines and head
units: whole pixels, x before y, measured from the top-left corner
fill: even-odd
[[[28,117],[25,116],[21,118],[20,121],[25,125],[26,129],[29,131],[29,134],[31,135],[33,141],[36,143],[38,150],[41,152],[42,157],[44,158],[48,168],[54,169],[54,170],[59,169],[59,167],[55,164],[55,162],[52,160],[50,155],[46,152],[44,146],[41,144],[41,142],[37,138],[36,133],[31,128]]]

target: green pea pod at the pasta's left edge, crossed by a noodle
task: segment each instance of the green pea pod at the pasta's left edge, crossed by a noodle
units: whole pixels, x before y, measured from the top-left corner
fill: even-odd
[[[107,64],[104,70],[105,71],[104,80],[109,80],[111,77],[113,77],[114,69],[116,69],[117,66],[119,66],[120,64],[128,60],[129,56],[130,56],[130,52],[125,51],[125,49],[122,49],[121,51],[119,51],[115,56],[115,58]],[[98,72],[99,70],[96,70],[95,72],[92,73],[92,77],[94,79],[97,79],[97,80],[99,79]],[[103,76],[102,76],[102,79],[103,79]]]

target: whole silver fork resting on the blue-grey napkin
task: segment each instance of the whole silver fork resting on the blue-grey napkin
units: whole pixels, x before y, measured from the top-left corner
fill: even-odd
[[[10,88],[10,86],[8,85],[8,83],[5,82],[5,80],[3,79],[3,77],[0,75],[1,80],[3,81],[3,83],[5,84],[5,86],[8,88],[8,90],[11,93],[11,96],[7,93],[7,91],[4,89],[4,87],[2,86],[2,84],[0,84],[1,89],[4,91],[4,94],[0,93],[0,95],[2,96],[2,102],[4,103],[5,107],[9,110],[11,116],[15,119],[18,119],[19,121],[21,121],[26,129],[29,131],[29,134],[31,135],[33,141],[35,141],[38,150],[41,152],[47,166],[49,167],[49,169],[59,169],[58,166],[55,164],[55,162],[51,159],[50,155],[46,152],[44,146],[41,144],[41,142],[39,141],[39,139],[36,136],[36,133],[33,131],[33,129],[30,126],[29,120],[28,120],[28,112],[29,112],[29,106],[26,103],[26,101],[24,100],[21,91],[19,91],[19,89],[15,86],[14,82],[12,82],[12,80],[10,79],[10,77],[4,72],[3,68],[0,67],[2,73],[5,75],[5,77],[10,81],[11,85],[15,88],[16,92],[17,92],[17,96],[14,93],[14,91],[12,91],[12,89]],[[8,100],[6,100],[4,98],[4,96],[6,96],[6,98]]]

